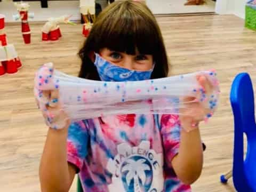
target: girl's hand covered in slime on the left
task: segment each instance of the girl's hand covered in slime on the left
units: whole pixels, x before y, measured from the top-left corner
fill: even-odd
[[[38,100],[37,105],[43,113],[46,125],[53,129],[67,129],[70,119],[59,100],[59,90],[43,91],[43,98],[47,101],[46,105],[42,105]]]

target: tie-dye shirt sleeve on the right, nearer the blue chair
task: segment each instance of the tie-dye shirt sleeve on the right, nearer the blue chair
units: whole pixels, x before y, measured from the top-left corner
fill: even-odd
[[[180,147],[180,120],[178,115],[162,115],[161,133],[165,153],[165,161],[171,166],[172,159],[179,153]]]

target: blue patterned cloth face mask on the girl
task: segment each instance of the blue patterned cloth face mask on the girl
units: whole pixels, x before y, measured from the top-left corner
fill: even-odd
[[[147,71],[137,71],[122,68],[100,57],[95,53],[94,65],[97,67],[101,81],[123,82],[142,81],[150,79],[153,69]],[[153,67],[154,68],[154,67]]]

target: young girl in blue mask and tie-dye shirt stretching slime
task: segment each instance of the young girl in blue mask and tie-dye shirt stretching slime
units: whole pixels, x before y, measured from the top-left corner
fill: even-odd
[[[103,10],[79,57],[79,77],[98,81],[154,79],[169,73],[161,31],[140,2],[115,2]],[[197,79],[206,92],[211,89],[204,76]],[[66,125],[50,127],[47,133],[39,169],[42,191],[68,191],[76,173],[86,192],[190,191],[201,174],[198,123],[205,112],[199,103],[190,103],[186,111],[194,116],[127,114],[70,124],[61,104],[51,102],[58,92],[44,94],[50,97],[48,110],[55,113],[52,122]]]

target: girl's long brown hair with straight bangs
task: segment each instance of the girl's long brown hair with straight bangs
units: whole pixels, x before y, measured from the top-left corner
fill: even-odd
[[[151,78],[167,77],[169,65],[161,31],[148,7],[140,2],[117,1],[106,7],[95,21],[78,55],[82,60],[79,77],[100,80],[89,58],[102,48],[135,54],[151,54],[155,67]]]

